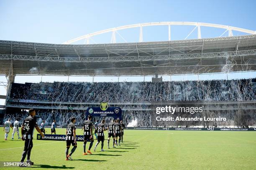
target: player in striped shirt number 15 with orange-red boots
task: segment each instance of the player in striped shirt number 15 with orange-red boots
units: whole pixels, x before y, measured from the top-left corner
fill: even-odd
[[[89,114],[88,115],[88,119],[86,121],[84,121],[84,126],[82,128],[82,130],[84,129],[84,155],[87,155],[87,153],[92,154],[92,152],[90,151],[93,145],[93,136],[92,136],[92,116]],[[90,146],[89,146],[89,150],[87,150],[87,153],[85,152],[85,147],[86,147],[86,143],[87,140],[90,140]]]

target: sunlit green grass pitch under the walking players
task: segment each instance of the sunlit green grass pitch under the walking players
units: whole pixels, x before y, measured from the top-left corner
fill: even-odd
[[[56,132],[64,134],[65,129]],[[11,133],[12,130],[5,141],[3,129],[0,131],[0,161],[20,161],[24,142],[17,140],[17,134],[16,140],[11,140]],[[35,130],[34,136],[36,133]],[[82,135],[81,129],[77,129],[77,134]],[[83,143],[78,142],[73,161],[65,160],[64,141],[34,139],[31,160],[35,165],[26,169],[256,169],[256,132],[125,130],[124,143],[116,149],[107,149],[106,139],[106,151],[100,152],[99,144],[97,152],[92,149],[92,155],[83,155]]]

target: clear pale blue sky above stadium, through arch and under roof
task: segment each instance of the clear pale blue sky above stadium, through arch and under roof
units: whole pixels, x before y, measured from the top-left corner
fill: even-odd
[[[63,43],[69,39],[98,30],[122,25],[160,22],[190,21],[230,25],[256,30],[255,0],[1,0],[0,39],[41,43]],[[172,28],[172,40],[184,39],[193,27]],[[201,28],[202,38],[220,36],[223,30]],[[128,42],[138,41],[138,29],[120,31]],[[168,40],[168,28],[143,29],[144,41]],[[233,33],[234,36],[240,33]],[[137,36],[136,36],[137,35]],[[189,38],[197,35],[192,33]],[[110,34],[95,37],[97,43],[110,43]],[[122,42],[117,36],[117,42]],[[83,43],[83,42],[79,42]],[[255,77],[242,73],[242,77]],[[230,75],[232,77],[232,75]],[[185,77],[185,78],[184,78]],[[188,79],[183,76],[177,79]],[[210,78],[204,76],[202,79]],[[226,75],[223,75],[225,78]],[[236,76],[234,76],[236,78]],[[67,77],[44,77],[43,81],[67,81]],[[91,81],[91,77],[69,78],[71,81]],[[102,79],[102,78],[95,78]],[[116,77],[110,78],[116,81]],[[143,78],[142,78],[143,79]],[[150,80],[150,78],[146,78]],[[195,78],[196,79],[196,78]],[[0,76],[0,81],[5,81]],[[109,80],[109,78],[108,78]],[[136,80],[133,77],[122,80]],[[41,81],[41,77],[18,77],[16,81]],[[5,91],[0,87],[1,94]],[[1,102],[0,102],[1,103]]]

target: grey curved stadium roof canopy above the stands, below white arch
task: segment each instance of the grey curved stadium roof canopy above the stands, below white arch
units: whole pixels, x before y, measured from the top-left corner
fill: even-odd
[[[112,44],[0,41],[0,74],[139,76],[256,70],[256,35]]]

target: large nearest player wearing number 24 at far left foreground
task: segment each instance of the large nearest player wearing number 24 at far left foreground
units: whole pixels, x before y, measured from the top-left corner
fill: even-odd
[[[44,134],[41,132],[38,125],[36,124],[35,109],[29,109],[28,113],[29,113],[29,116],[26,117],[26,119],[23,121],[23,124],[21,126],[21,134],[22,134],[21,139],[25,140],[25,146],[24,146],[24,150],[23,150],[20,162],[23,162],[26,158],[26,155],[28,155],[27,162],[33,165],[34,162],[30,160],[30,154],[33,147],[34,128],[36,128],[37,132],[41,134],[42,138],[44,138]]]

